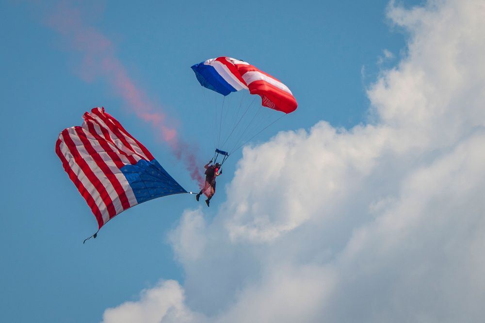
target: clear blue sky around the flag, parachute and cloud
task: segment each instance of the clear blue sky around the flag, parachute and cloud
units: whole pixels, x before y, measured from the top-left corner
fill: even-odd
[[[404,1],[405,8],[417,4],[421,1]],[[367,90],[406,57],[410,34],[418,32],[406,21],[401,25],[407,27],[398,26],[399,17],[391,23],[384,0],[2,1],[2,322],[101,321],[107,308],[137,300],[160,279],[183,285],[190,272],[174,254],[169,232],[177,231],[184,212],[197,210],[191,195],[140,204],[82,244],[97,230],[96,221],[62,169],[54,144],[65,127],[81,124],[85,111],[104,106],[182,186],[196,190],[196,183],[113,91],[109,77],[80,77],[85,48],[74,48],[68,36],[49,27],[59,6],[78,12],[85,28],[112,43],[110,55],[157,112],[170,117],[180,138],[196,147],[201,162],[212,155],[204,122],[212,110],[192,64],[217,56],[240,58],[291,89],[298,109],[255,138],[254,145],[279,131],[310,131],[322,120],[345,129],[368,123]],[[87,39],[82,46],[90,44]],[[373,93],[379,101],[380,94]],[[225,185],[237,187],[229,183],[244,167],[241,159],[242,151],[231,156],[210,209],[199,210],[207,223],[222,216],[219,205],[237,199]],[[190,291],[189,305],[200,309],[203,303],[191,301]]]

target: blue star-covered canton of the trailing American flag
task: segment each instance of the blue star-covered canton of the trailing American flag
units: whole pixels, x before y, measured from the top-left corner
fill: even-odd
[[[135,165],[122,167],[121,171],[128,180],[138,204],[165,195],[187,193],[156,159],[140,159]]]

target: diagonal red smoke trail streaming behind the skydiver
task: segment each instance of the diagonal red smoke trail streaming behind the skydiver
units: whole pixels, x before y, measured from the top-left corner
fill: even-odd
[[[95,28],[86,26],[79,9],[65,3],[51,12],[47,24],[61,33],[69,46],[82,55],[80,77],[85,81],[97,77],[105,79],[136,116],[149,123],[170,146],[177,159],[183,161],[192,179],[203,185],[204,179],[199,173],[200,163],[192,153],[193,149],[178,137],[177,129],[167,125],[161,107],[150,102],[146,93],[128,76],[127,70],[115,55],[113,43]]]

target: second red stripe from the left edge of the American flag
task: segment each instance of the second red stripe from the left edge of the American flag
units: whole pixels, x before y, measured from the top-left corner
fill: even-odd
[[[76,127],[74,127],[76,128]],[[110,218],[112,218],[114,215],[116,215],[116,210],[113,205],[113,200],[111,200],[110,195],[108,194],[108,191],[104,187],[104,185],[99,181],[99,179],[96,177],[96,174],[93,172],[93,170],[89,167],[89,165],[86,163],[84,158],[82,158],[81,154],[79,153],[76,145],[72,141],[72,138],[70,137],[69,134],[69,129],[67,128],[61,132],[64,142],[71,152],[71,154],[74,157],[74,160],[76,163],[79,165],[79,167],[82,169],[88,180],[93,184],[95,189],[97,190],[99,196],[103,200],[104,204],[106,205],[106,209],[108,210],[108,215]],[[72,129],[72,128],[71,128]]]

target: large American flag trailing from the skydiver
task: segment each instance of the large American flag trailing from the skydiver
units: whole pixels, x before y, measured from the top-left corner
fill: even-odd
[[[99,228],[124,210],[158,197],[187,193],[104,108],[66,128],[56,154],[97,219]]]

